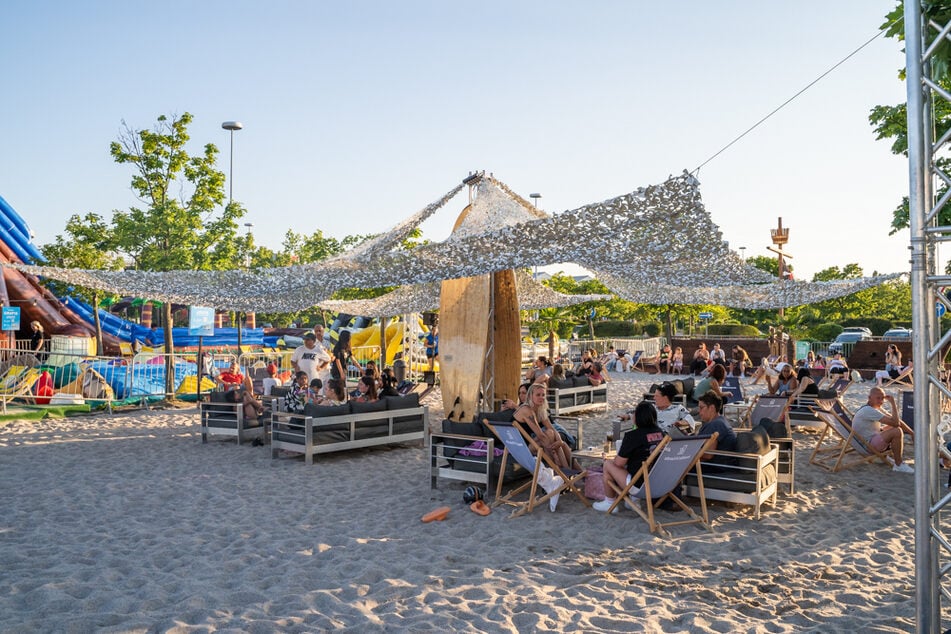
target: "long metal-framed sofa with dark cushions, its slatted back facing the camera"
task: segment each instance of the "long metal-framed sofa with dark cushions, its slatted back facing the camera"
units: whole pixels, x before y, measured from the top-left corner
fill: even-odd
[[[333,407],[308,404],[303,414],[273,414],[271,458],[284,450],[313,464],[317,454],[425,441],[428,431],[429,409],[420,406],[417,394]]]

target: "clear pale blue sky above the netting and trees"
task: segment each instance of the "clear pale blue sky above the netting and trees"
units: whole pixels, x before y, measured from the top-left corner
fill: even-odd
[[[187,111],[191,149],[215,143],[226,174],[221,123],[245,125],[234,197],[272,248],[288,229],[382,231],[474,170],[558,212],[693,170],[895,4],[5,0],[0,195],[41,245],[72,214],[128,208],[122,121]],[[767,255],[782,216],[799,279],[908,270],[908,231],[888,236],[907,163],[868,124],[905,100],[903,65],[879,38],[700,171],[731,246]]]

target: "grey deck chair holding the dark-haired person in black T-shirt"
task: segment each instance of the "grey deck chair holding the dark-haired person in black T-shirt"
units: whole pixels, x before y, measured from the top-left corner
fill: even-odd
[[[614,512],[622,502],[627,504],[628,508],[640,515],[652,533],[660,533],[670,536],[667,532],[668,526],[678,526],[680,524],[700,524],[707,530],[710,527],[710,518],[707,515],[707,500],[703,495],[703,475],[700,472],[700,458],[704,453],[714,449],[717,445],[717,434],[712,436],[688,436],[686,438],[671,438],[665,436],[659,445],[651,452],[651,455],[644,461],[641,468],[638,469],[631,481],[621,491],[614,488],[614,504],[608,510],[608,514]],[[680,498],[680,484],[687,473],[694,470],[697,474],[697,481],[700,483],[700,515]],[[634,483],[643,480],[641,487],[636,491]],[[641,501],[647,510],[641,508]],[[660,522],[654,515],[654,511],[666,500],[672,500],[682,511],[687,514],[687,519],[674,520],[671,522]]]

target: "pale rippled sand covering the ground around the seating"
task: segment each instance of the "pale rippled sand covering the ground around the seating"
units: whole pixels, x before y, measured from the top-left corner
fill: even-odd
[[[615,374],[612,410],[656,380]],[[585,419],[589,438],[610,429]],[[568,498],[481,517],[464,483],[430,490],[418,444],[307,467],[203,445],[195,409],[12,421],[0,631],[911,631],[914,477],[828,474],[808,463],[815,435],[796,438],[796,493],[760,521],[714,502],[712,533],[663,538]],[[441,505],[445,522],[420,522]]]

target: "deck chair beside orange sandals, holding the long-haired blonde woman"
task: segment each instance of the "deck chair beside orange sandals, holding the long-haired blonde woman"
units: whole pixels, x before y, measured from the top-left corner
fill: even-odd
[[[505,449],[502,452],[502,464],[499,467],[500,473],[505,473],[508,465],[508,459],[511,456],[526,471],[532,474],[529,482],[516,486],[504,496],[502,495],[503,478],[499,478],[495,487],[495,500],[492,506],[508,504],[515,507],[511,517],[518,517],[525,513],[531,513],[536,506],[544,505],[554,495],[560,495],[566,491],[571,491],[585,506],[591,506],[591,502],[584,496],[581,482],[588,474],[586,470],[574,471],[558,467],[555,461],[545,453],[545,450],[538,446],[535,440],[526,433],[518,423],[509,423],[504,421],[483,420],[482,424],[488,428],[496,438],[498,438]],[[532,454],[532,449],[535,454]],[[563,484],[560,487],[553,488],[545,492],[538,482],[539,474],[544,468],[551,469],[553,475],[561,477]],[[527,500],[517,500],[516,498],[528,490]]]

